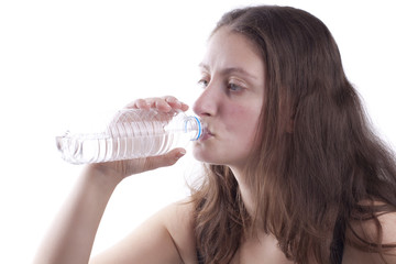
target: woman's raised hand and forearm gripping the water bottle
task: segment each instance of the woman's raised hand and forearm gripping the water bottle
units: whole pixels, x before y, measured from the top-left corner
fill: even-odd
[[[156,110],[161,117],[166,117],[165,113],[172,111],[184,112],[188,106],[174,97],[164,97],[139,99],[127,108]],[[117,123],[121,117],[117,114],[112,122]],[[79,147],[73,150],[79,151]],[[129,175],[170,166],[184,153],[185,150],[178,147],[157,156],[89,163],[44,239],[34,263],[88,263],[100,219],[117,185]]]

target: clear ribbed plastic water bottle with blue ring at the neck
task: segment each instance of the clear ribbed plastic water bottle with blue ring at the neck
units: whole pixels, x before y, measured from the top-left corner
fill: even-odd
[[[56,145],[69,163],[101,163],[165,154],[201,135],[199,119],[183,111],[123,109],[103,132],[66,132],[56,138]]]

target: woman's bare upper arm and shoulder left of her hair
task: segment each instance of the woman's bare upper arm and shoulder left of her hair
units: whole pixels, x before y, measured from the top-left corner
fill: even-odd
[[[169,205],[89,263],[196,264],[193,216],[188,200]]]

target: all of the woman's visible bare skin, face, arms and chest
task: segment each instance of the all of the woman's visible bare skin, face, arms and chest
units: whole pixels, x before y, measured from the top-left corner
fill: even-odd
[[[264,64],[252,43],[224,28],[209,41],[199,82],[202,92],[194,111],[206,123],[207,134],[196,143],[194,155],[199,161],[230,166],[242,199],[251,210],[253,200],[241,172],[249,158],[262,107]],[[164,112],[188,109],[174,97],[139,99],[128,107],[156,108]],[[114,188],[130,175],[174,165],[184,154],[184,148],[176,148],[156,157],[88,165],[44,239],[34,263],[197,263],[194,211],[193,205],[185,202],[188,200],[169,205],[119,243],[90,257],[100,219]],[[396,238],[396,217],[387,216],[382,217],[386,229],[384,241],[392,241]],[[365,231],[370,228],[364,227]],[[292,263],[279,251],[273,235],[257,232],[254,238],[242,241],[231,263],[263,262]],[[344,263],[381,262],[372,262],[365,254],[346,246]],[[394,258],[389,263],[395,263]]]

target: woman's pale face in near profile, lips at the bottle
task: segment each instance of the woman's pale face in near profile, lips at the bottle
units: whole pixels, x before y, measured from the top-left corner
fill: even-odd
[[[242,168],[263,105],[264,63],[252,42],[223,26],[210,37],[200,69],[202,92],[193,109],[207,133],[195,143],[194,156]]]

